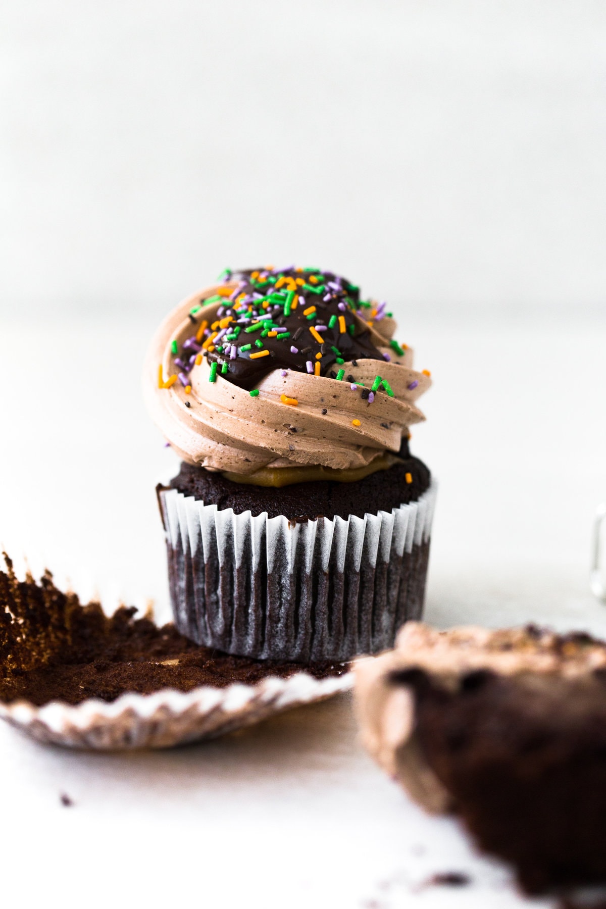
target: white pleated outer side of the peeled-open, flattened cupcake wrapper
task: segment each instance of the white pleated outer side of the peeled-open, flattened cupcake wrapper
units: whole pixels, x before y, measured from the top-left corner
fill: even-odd
[[[187,694],[168,689],[123,694],[112,704],[91,699],[76,706],[53,702],[35,707],[20,701],[0,704],[0,717],[45,744],[95,751],[168,748],[216,738],[290,707],[349,691],[352,684],[352,673],[325,679],[298,673]]]

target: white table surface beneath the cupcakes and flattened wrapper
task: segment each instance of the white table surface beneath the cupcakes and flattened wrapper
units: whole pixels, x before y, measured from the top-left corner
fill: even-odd
[[[173,462],[139,390],[154,325],[0,328],[0,542],[108,608],[153,599],[165,618],[154,479]],[[428,620],[606,633],[587,584],[606,498],[606,322],[408,328],[435,379],[412,440],[441,484]],[[0,798],[2,891],[22,905],[551,905],[523,900],[455,821],[375,767],[348,695],[162,753],[69,753],[3,724]],[[443,871],[472,884],[423,885]]]

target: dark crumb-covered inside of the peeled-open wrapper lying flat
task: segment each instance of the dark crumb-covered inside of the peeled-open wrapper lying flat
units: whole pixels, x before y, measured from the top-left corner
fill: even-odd
[[[255,684],[302,670],[316,679],[343,675],[348,664],[310,665],[254,660],[201,647],[174,627],[135,619],[134,607],[106,616],[98,603],[82,605],[55,587],[46,571],[39,584],[15,576],[5,554],[0,570],[0,701],[80,704],[114,701],[121,694],[165,688],[188,692],[200,685]]]

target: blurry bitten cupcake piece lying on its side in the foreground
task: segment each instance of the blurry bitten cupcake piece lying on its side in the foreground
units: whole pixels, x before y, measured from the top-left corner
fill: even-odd
[[[411,622],[358,666],[356,700],[378,763],[459,814],[527,893],[606,882],[604,642]]]

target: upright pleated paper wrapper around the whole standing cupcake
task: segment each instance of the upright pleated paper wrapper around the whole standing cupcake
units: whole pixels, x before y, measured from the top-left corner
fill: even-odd
[[[422,614],[436,485],[391,512],[301,524],[159,491],[174,624],[256,659],[348,660]]]

